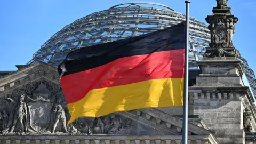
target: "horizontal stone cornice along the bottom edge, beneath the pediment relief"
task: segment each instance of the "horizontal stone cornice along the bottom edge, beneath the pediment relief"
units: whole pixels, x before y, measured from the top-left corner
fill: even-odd
[[[63,135],[63,136],[1,136],[1,143],[21,143],[22,141],[26,141],[26,143],[110,143],[110,141],[115,141],[116,144],[119,143],[176,143],[181,144],[182,135],[87,135],[87,136],[71,136],[71,135]],[[188,143],[197,143],[197,144],[218,144],[216,138],[212,135],[189,135]]]

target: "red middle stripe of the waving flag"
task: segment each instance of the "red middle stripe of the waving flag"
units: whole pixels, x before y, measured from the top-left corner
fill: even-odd
[[[73,103],[93,89],[183,76],[184,49],[178,49],[119,58],[100,67],[63,76],[60,83],[67,103]]]

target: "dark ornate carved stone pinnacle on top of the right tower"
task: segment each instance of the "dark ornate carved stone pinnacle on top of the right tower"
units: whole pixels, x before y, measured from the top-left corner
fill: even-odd
[[[213,14],[205,18],[209,23],[211,42],[204,57],[238,57],[233,45],[235,23],[238,18],[231,14],[231,8],[227,5],[228,0],[217,0],[217,7],[212,10]]]

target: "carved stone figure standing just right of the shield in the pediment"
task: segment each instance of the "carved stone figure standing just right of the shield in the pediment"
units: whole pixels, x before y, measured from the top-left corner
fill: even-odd
[[[67,131],[67,123],[66,123],[66,116],[65,116],[65,110],[62,108],[60,103],[55,104],[55,106],[53,108],[53,112],[54,112],[54,124],[53,124],[52,133],[55,133],[55,129],[56,129],[57,124],[59,122],[62,123],[62,127],[64,129],[64,132],[68,133],[68,131]]]

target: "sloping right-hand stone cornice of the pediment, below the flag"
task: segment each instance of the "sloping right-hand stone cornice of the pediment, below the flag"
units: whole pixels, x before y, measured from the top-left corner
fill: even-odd
[[[137,109],[130,111],[117,112],[119,115],[138,121],[143,125],[148,125],[166,134],[181,135],[182,120],[171,116],[155,108]],[[188,123],[188,134],[191,135],[210,135],[209,130],[203,127]]]

